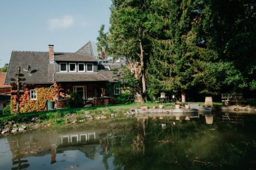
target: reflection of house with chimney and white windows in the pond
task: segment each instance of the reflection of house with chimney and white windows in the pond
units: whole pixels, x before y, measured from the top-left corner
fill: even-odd
[[[36,131],[8,136],[12,160],[29,156],[51,154],[51,163],[56,162],[56,154],[68,150],[79,150],[86,157],[94,159],[101,147],[100,138],[106,137],[107,129],[67,132]],[[50,161],[50,160],[49,160]]]

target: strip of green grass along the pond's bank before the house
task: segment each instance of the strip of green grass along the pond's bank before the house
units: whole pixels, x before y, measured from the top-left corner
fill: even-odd
[[[196,103],[196,102],[187,102],[189,103]],[[199,105],[204,105],[204,102],[198,102]],[[148,106],[148,108],[152,108],[153,105],[156,105],[157,107],[161,103],[154,103],[154,102],[147,102],[143,103],[143,106]],[[222,105],[221,102],[214,102],[214,106],[220,106]],[[32,113],[21,113],[18,115],[15,114],[8,114],[8,115],[0,115],[0,122],[5,122],[6,120],[16,120],[16,119],[26,119],[26,118],[32,118],[32,117],[39,117],[42,120],[51,120],[56,124],[61,124],[62,117],[65,114],[68,113],[75,113],[77,114],[78,119],[82,119],[83,116],[81,114],[84,113],[85,110],[90,111],[92,115],[97,115],[102,112],[105,113],[106,116],[109,116],[111,113],[118,113],[122,114],[126,110],[129,110],[131,108],[139,108],[141,105],[138,103],[126,103],[126,104],[115,104],[115,105],[105,105],[105,106],[96,106],[91,108],[70,108],[70,109],[58,109],[53,111],[42,111],[42,112],[32,112]],[[174,103],[164,103],[164,108],[173,107]],[[83,114],[84,115],[84,114]],[[59,118],[60,117],[60,118]]]

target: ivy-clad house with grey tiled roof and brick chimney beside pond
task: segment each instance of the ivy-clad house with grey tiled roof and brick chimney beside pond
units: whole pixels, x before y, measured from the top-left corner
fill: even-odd
[[[80,94],[84,106],[112,103],[118,92],[115,90],[114,94],[106,88],[109,84],[114,86],[113,69],[121,68],[125,57],[109,56],[99,60],[94,46],[89,41],[75,53],[54,52],[54,45],[49,45],[49,52],[13,51],[5,84],[12,82],[20,66],[27,87],[19,100],[20,111],[44,110],[48,100],[54,100],[57,108],[66,107],[73,91]],[[15,97],[11,105],[14,111]]]

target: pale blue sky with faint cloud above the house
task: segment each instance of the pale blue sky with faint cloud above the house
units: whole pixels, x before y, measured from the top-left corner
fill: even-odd
[[[12,51],[76,52],[110,27],[111,0],[0,0],[0,67]]]

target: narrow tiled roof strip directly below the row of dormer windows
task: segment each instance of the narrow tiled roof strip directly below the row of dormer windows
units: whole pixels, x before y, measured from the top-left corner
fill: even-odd
[[[56,82],[93,82],[93,81],[109,81],[99,72],[92,73],[61,73],[54,74]]]

